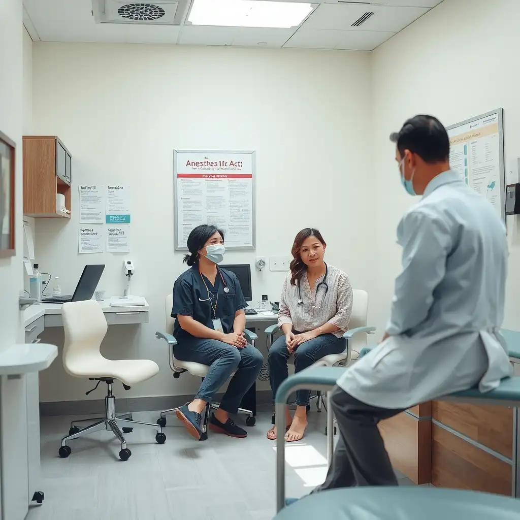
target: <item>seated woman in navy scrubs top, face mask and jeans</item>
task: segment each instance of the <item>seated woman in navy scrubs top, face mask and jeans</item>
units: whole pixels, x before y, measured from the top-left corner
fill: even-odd
[[[229,414],[236,414],[244,394],[253,385],[262,365],[262,354],[244,337],[245,307],[238,278],[218,268],[224,259],[224,233],[203,224],[193,229],[187,241],[190,254],[184,263],[190,266],[177,278],[173,287],[172,317],[177,345],[175,358],[209,365],[199,392],[187,405],[177,410],[177,417],[194,438],[202,436],[201,414],[218,389],[229,379],[220,407],[212,414],[210,430],[246,437]]]

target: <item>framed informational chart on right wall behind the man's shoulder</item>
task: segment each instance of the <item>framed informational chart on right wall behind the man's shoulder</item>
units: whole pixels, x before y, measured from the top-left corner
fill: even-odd
[[[451,169],[505,219],[503,110],[478,115],[447,130]]]

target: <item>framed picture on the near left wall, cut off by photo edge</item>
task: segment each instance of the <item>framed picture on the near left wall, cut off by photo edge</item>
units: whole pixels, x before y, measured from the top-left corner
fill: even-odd
[[[0,257],[15,256],[15,148],[0,132]]]

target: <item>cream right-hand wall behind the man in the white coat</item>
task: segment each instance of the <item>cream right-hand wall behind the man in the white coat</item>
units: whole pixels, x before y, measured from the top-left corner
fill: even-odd
[[[417,113],[432,113],[449,126],[502,107],[506,182],[517,182],[517,172],[509,171],[511,161],[520,157],[519,17],[516,0],[445,0],[371,55],[378,277],[370,311],[380,331],[400,268],[395,229],[414,202],[400,185],[388,135]],[[507,224],[510,272],[504,326],[520,329],[520,234],[515,217],[508,217]]]

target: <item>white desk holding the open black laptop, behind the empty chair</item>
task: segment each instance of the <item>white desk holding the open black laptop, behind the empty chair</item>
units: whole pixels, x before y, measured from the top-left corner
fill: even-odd
[[[150,306],[131,305],[128,307],[111,307],[110,300],[100,302],[109,325],[126,325],[132,323],[148,323]],[[60,303],[41,303],[31,305],[23,311],[25,326],[25,343],[31,343],[46,327],[63,327]]]

